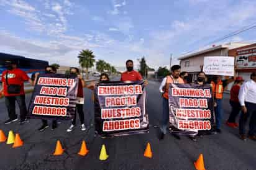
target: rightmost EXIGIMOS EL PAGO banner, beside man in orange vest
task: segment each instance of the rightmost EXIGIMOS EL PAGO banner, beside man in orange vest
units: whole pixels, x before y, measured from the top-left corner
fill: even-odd
[[[211,133],[214,125],[212,90],[209,85],[170,84],[170,133]]]

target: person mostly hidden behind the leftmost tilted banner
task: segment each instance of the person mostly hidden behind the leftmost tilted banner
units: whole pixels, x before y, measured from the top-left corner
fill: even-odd
[[[55,74],[57,73],[57,69],[53,66],[46,66],[45,67],[45,74]],[[39,73],[35,73],[35,79],[33,80],[34,81],[34,86],[35,86],[35,83],[37,82],[37,77],[39,76]],[[40,132],[43,132],[43,130],[45,130],[46,128],[48,128],[48,121],[45,120],[45,119],[42,119],[42,126],[39,128],[39,131]],[[55,128],[57,128],[57,120],[53,120],[52,121],[52,130],[54,130]]]

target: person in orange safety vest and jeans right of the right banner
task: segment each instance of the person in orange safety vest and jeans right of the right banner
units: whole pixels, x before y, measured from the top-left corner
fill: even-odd
[[[213,89],[213,97],[214,97],[214,112],[216,119],[216,133],[221,133],[221,121],[222,121],[222,99],[224,89],[227,87],[229,83],[234,81],[234,79],[221,79],[222,76],[213,76],[213,80],[211,81],[211,87]]]

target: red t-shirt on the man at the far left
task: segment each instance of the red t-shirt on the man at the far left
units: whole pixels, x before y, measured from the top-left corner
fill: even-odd
[[[8,94],[6,84],[6,73],[8,78],[8,84],[18,84],[21,86],[21,92],[19,94]],[[5,70],[2,72],[2,83],[4,83],[4,96],[20,96],[24,95],[24,81],[28,81],[29,76],[21,69]]]

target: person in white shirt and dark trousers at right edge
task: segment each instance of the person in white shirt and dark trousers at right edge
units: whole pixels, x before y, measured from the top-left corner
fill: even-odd
[[[245,123],[250,117],[248,136],[250,139],[256,140],[256,72],[252,73],[250,80],[241,86],[238,99],[242,108],[239,120],[239,137],[242,140],[246,139]]]

